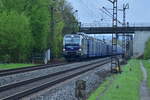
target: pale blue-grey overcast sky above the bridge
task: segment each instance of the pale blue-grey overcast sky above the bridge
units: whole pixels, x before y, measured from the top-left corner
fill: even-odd
[[[105,18],[105,22],[111,22],[110,17],[102,14],[100,9],[105,6],[112,8],[112,4],[107,0],[67,0],[71,3],[74,10],[78,10],[78,19],[83,23],[92,23]],[[130,23],[150,23],[150,0],[118,0],[119,8],[123,3],[129,3],[130,9],[127,10],[127,20]],[[122,13],[119,13],[122,17]],[[122,20],[122,19],[120,19]]]

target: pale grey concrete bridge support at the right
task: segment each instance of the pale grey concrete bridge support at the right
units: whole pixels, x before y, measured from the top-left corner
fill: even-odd
[[[150,31],[135,31],[133,39],[133,56],[139,57],[144,53],[145,43],[150,38]]]

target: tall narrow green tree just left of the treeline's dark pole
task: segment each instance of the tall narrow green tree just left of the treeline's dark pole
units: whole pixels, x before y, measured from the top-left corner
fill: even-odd
[[[48,9],[49,4],[46,1],[48,0],[36,0],[30,9],[30,23],[34,39],[33,48],[36,52],[42,52],[48,48],[50,13]]]

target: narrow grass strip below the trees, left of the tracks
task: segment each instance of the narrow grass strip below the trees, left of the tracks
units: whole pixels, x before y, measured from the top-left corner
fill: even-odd
[[[34,64],[0,64],[0,69],[14,69],[20,67],[33,66]]]

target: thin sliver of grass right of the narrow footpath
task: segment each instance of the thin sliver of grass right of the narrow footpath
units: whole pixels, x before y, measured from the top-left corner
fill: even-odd
[[[148,82],[148,86],[149,86],[149,88],[150,88],[150,60],[144,60],[143,61],[143,64],[144,64],[144,67],[146,68],[146,70],[147,70],[147,82]]]

